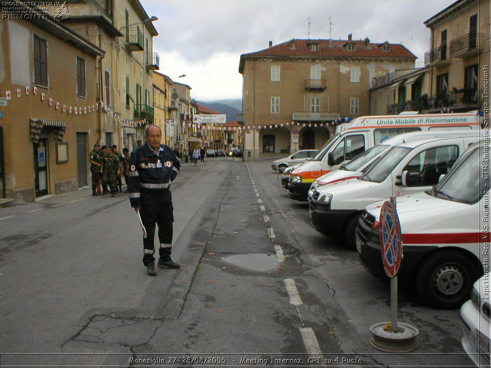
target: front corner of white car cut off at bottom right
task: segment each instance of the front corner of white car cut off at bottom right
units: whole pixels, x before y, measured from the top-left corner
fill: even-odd
[[[477,367],[490,367],[491,305],[490,280],[483,276],[474,283],[470,300],[460,310],[462,347]]]

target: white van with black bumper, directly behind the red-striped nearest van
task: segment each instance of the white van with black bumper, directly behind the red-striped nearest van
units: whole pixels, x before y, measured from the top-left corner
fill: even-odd
[[[355,248],[355,228],[365,207],[391,195],[430,189],[467,146],[479,140],[479,131],[469,133],[391,146],[360,178],[317,188],[309,198],[311,225],[327,236],[345,237]]]

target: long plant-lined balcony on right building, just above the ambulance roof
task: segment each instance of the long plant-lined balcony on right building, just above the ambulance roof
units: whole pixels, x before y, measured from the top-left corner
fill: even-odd
[[[456,89],[453,92],[428,98],[421,97],[421,108],[424,112],[438,112],[443,108],[454,111],[471,110],[479,108],[479,95],[476,88]]]

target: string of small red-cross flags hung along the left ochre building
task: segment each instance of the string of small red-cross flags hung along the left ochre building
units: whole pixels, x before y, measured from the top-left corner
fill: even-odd
[[[16,90],[16,96],[17,98],[21,98],[23,96],[28,96],[30,92],[32,92],[33,95],[37,96],[38,95],[38,90],[37,87],[34,85],[32,87],[32,90],[30,89],[29,86],[26,86],[24,89],[24,95],[22,93],[23,88],[17,88]],[[12,99],[12,93],[11,91],[5,91],[5,98],[7,100]],[[147,123],[146,119],[143,119],[142,121],[130,121],[126,119],[122,119],[120,116],[117,116],[114,111],[110,109],[107,105],[104,104],[104,102],[100,102],[94,105],[89,105],[89,106],[83,106],[83,107],[77,107],[77,106],[69,106],[66,104],[61,104],[60,102],[55,102],[51,97],[46,96],[44,92],[41,92],[40,94],[41,101],[47,101],[49,106],[54,106],[55,110],[61,110],[61,112],[68,112],[69,114],[75,114],[75,115],[82,115],[82,114],[89,114],[93,113],[99,110],[104,111],[106,114],[110,115],[111,117],[117,119],[119,123],[126,124],[126,126],[130,127],[140,127],[142,125],[145,125]]]

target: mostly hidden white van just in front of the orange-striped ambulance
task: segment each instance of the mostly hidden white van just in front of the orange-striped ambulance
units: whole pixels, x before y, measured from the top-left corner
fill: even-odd
[[[311,198],[315,190],[323,185],[332,184],[336,182],[342,182],[348,179],[359,178],[370,167],[370,164],[377,158],[383,155],[383,152],[390,146],[399,145],[405,142],[411,142],[415,140],[425,138],[452,138],[462,137],[471,134],[475,136],[475,131],[413,131],[410,133],[398,134],[395,137],[384,140],[381,144],[370,147],[365,152],[359,154],[350,161],[343,162],[339,168],[332,170],[327,174],[321,176],[319,179],[314,180],[307,193]]]

